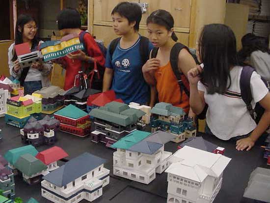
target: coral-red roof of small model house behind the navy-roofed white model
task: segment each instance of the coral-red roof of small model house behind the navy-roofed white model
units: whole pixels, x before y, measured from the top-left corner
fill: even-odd
[[[68,154],[61,147],[53,146],[52,148],[39,152],[36,155],[36,158],[42,161],[45,165],[49,165],[67,156]]]

